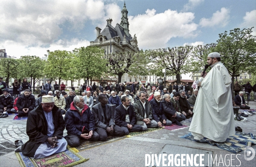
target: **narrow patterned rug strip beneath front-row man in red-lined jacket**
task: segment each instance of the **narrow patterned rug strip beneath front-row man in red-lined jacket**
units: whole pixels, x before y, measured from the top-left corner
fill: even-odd
[[[71,147],[71,150],[73,150],[73,151],[87,150],[87,149],[90,149],[90,148],[93,148],[93,147],[101,146],[103,144],[112,143],[114,141],[118,141],[118,140],[121,140],[121,139],[124,139],[124,138],[127,138],[127,137],[126,136],[117,137],[117,136],[110,136],[109,135],[107,137],[107,141],[87,141],[87,140],[82,141],[81,140],[80,145],[78,147],[76,147],[76,149]]]

